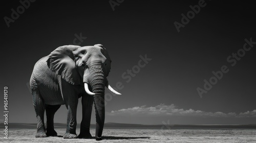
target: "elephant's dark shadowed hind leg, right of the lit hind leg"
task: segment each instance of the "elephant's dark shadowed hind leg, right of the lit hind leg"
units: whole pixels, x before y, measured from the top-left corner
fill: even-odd
[[[60,105],[46,105],[46,135],[57,136],[57,132],[54,130],[53,118]]]

